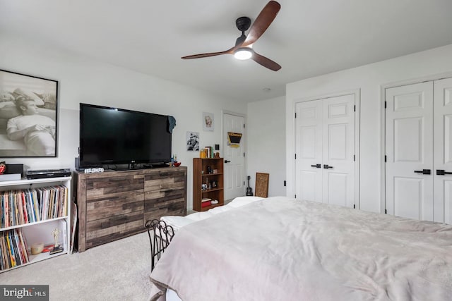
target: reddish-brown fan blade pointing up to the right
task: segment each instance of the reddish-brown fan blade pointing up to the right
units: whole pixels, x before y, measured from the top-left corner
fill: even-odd
[[[253,25],[249,29],[248,36],[245,39],[245,42],[241,45],[241,47],[246,47],[257,41],[263,32],[265,32],[270,26],[270,24],[275,20],[276,15],[280,11],[280,4],[276,1],[270,1],[268,4],[262,9],[259,16],[257,16]]]

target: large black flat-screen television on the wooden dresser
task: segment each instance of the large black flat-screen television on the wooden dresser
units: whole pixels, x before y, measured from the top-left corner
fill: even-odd
[[[171,161],[168,116],[80,104],[81,167]]]

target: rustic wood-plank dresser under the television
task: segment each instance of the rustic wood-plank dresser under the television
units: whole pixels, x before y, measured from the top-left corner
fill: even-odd
[[[186,166],[73,174],[78,252],[146,231],[145,221],[186,215]]]

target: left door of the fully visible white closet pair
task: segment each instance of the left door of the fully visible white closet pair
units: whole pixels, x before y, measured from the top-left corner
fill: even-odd
[[[296,106],[297,199],[322,202],[322,101]]]

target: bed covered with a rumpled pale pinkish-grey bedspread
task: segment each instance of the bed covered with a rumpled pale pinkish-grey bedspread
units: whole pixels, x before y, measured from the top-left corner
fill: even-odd
[[[255,199],[179,228],[150,281],[150,300],[451,300],[452,226]]]

